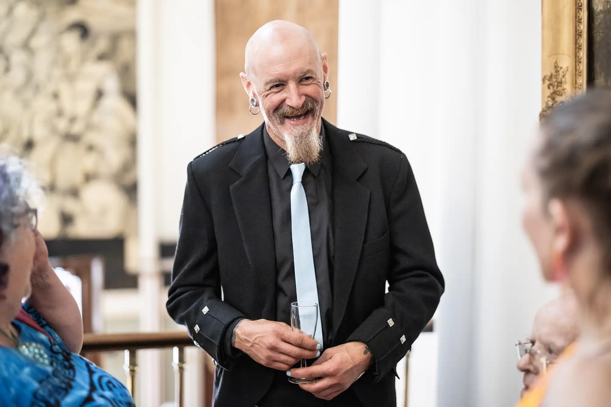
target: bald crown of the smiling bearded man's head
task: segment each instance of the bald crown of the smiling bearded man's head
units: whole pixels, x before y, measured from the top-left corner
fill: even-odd
[[[269,21],[246,43],[244,69],[252,80],[260,68],[282,64],[287,56],[321,60],[320,50],[311,32],[290,21]]]

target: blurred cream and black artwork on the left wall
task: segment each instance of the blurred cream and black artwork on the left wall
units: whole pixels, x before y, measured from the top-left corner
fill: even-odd
[[[136,0],[0,2],[0,142],[46,186],[46,238],[136,234]]]

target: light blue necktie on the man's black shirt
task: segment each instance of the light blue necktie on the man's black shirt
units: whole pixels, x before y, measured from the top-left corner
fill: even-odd
[[[310,301],[318,304],[318,321],[314,339],[323,346],[323,327],[320,323],[320,303],[316,288],[316,272],[312,254],[312,235],[310,234],[310,215],[307,209],[304,186],[301,177],[305,164],[291,165],[293,188],[291,188],[291,228],[293,232],[293,260],[295,262],[295,286],[297,301]]]

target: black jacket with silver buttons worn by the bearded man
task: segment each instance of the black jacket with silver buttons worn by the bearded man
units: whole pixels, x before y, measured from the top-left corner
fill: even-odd
[[[332,345],[366,343],[375,365],[351,388],[365,406],[395,406],[392,370],[433,317],[444,279],[406,156],[323,125],[333,157]],[[215,406],[254,406],[271,385],[273,370],[229,358],[223,340],[236,318],[276,318],[275,270],[262,125],[187,167],[167,311],[218,363]]]

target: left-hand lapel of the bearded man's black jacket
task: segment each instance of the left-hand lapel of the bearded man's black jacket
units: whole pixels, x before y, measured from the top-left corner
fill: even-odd
[[[276,253],[263,125],[246,136],[230,167],[241,178],[230,186],[240,234],[255,274],[260,318],[276,319]]]

